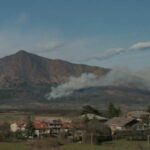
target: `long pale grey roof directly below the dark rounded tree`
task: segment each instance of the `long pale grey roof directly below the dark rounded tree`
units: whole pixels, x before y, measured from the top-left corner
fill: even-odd
[[[96,120],[99,120],[100,122],[105,122],[105,121],[108,120],[105,117],[102,117],[102,116],[99,116],[99,115],[96,115],[96,114],[91,114],[91,113],[81,115],[80,118],[82,118],[82,119],[87,118],[88,120],[96,119]]]

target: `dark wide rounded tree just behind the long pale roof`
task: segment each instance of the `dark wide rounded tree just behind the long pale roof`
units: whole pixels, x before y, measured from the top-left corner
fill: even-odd
[[[100,115],[100,112],[97,109],[95,109],[94,107],[92,107],[90,105],[83,106],[81,114],[84,115],[84,114],[88,114],[88,113]]]

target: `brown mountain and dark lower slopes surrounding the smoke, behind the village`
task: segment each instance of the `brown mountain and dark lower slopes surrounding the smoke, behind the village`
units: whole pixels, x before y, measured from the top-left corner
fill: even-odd
[[[122,84],[83,88],[68,97],[50,101],[46,99],[51,87],[68,81],[71,76],[80,77],[83,73],[92,73],[104,77],[110,71],[102,67],[48,59],[20,50],[0,59],[0,107],[49,109],[78,108],[92,104],[104,108],[110,101],[127,107],[144,107],[149,104],[150,92],[139,89],[132,81],[128,86]]]

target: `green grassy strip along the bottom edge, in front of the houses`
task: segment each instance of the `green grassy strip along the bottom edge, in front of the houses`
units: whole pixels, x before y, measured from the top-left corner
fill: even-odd
[[[30,141],[31,142],[31,141]],[[147,142],[126,141],[119,140],[113,142],[106,142],[102,145],[88,145],[88,144],[65,144],[53,145],[48,143],[46,147],[45,142],[36,143],[37,147],[30,142],[27,143],[0,143],[0,150],[147,150]],[[58,145],[57,145],[58,144]],[[32,147],[32,146],[33,147]]]

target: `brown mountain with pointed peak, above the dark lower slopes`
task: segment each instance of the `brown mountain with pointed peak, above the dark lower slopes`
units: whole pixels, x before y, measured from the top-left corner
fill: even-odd
[[[0,87],[13,87],[20,83],[60,84],[70,76],[94,73],[98,76],[109,70],[62,60],[52,60],[20,50],[14,55],[0,59]]]

